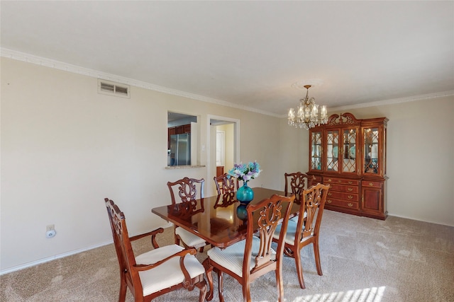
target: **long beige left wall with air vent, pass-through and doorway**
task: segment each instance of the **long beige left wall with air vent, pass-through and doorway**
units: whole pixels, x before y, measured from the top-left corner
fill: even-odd
[[[167,110],[198,115],[205,146],[207,115],[240,120],[240,161],[264,171],[251,185],[279,187],[281,119],[134,86],[131,99],[117,98],[96,85],[1,58],[1,272],[110,243],[104,197],[124,211],[131,235],[165,225],[150,210],[168,203],[166,182],[206,178],[206,168],[165,169]],[[48,224],[55,238],[45,238]]]

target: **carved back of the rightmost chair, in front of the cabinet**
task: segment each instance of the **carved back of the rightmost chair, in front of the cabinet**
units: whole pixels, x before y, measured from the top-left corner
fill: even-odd
[[[295,240],[307,240],[311,237],[319,236],[321,217],[325,208],[326,197],[330,185],[321,183],[303,190],[302,196],[306,200],[299,208],[299,219],[297,225],[297,233]],[[306,211],[306,219],[302,219],[303,213]],[[295,245],[297,242],[295,242]]]

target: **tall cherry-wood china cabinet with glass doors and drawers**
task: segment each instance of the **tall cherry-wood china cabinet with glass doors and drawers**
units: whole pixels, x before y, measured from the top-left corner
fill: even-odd
[[[309,130],[309,172],[331,185],[326,209],[386,219],[386,127],[388,119],[331,115]],[[316,183],[315,182],[315,183]]]

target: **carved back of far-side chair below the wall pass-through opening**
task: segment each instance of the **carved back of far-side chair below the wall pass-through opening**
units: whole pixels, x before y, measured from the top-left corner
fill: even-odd
[[[204,198],[204,182],[201,180],[196,180],[195,178],[182,178],[176,182],[167,182],[167,187],[170,190],[170,198],[172,199],[172,204],[177,202],[189,202],[191,204],[196,203],[196,199]],[[178,194],[178,199],[175,198],[175,193]]]

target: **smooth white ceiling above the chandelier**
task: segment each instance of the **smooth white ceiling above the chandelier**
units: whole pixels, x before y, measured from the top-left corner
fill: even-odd
[[[1,52],[286,115],[454,94],[454,1],[1,1]],[[11,55],[11,57],[13,57]]]

